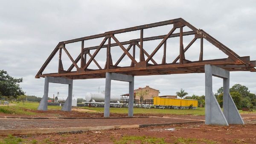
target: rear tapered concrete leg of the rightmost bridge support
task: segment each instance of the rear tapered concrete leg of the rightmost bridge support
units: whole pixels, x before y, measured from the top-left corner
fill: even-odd
[[[223,79],[223,113],[227,119],[228,124],[244,124],[239,111],[236,108],[231,95],[230,95],[230,79]]]

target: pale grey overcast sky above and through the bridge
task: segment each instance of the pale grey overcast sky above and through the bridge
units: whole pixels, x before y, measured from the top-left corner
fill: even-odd
[[[182,17],[198,29],[232,49],[240,56],[256,60],[256,1],[253,0],[0,0],[0,69],[11,76],[23,78],[22,89],[27,95],[42,96],[44,78],[35,75],[59,41],[96,35],[103,32],[171,20]],[[145,30],[144,36],[166,35],[172,26]],[[188,29],[185,29],[188,30]],[[139,38],[139,32],[116,35],[119,41]],[[192,37],[184,38],[184,46]],[[113,42],[113,40],[112,40]],[[149,53],[160,41],[145,43]],[[85,46],[97,46],[100,40],[85,42]],[[81,43],[67,45],[75,59]],[[178,39],[167,41],[167,61],[178,54]],[[126,46],[125,46],[126,47]],[[199,41],[185,56],[189,60],[199,57]],[[115,62],[122,50],[112,48]],[[161,61],[162,51],[154,58]],[[62,52],[64,69],[71,61]],[[102,56],[102,58],[101,58]],[[104,50],[96,60],[104,67]],[[204,59],[227,58],[218,48],[204,40]],[[129,65],[128,58],[121,65]],[[58,57],[53,58],[45,72],[57,72]],[[231,72],[230,86],[247,86],[256,93],[256,72]],[[222,80],[213,79],[213,90],[222,86]],[[175,95],[181,88],[189,95],[204,95],[204,74],[136,76],[135,86],[149,85],[160,90],[160,95]],[[49,97],[60,92],[67,95],[67,85],[50,84]],[[86,92],[105,89],[105,79],[75,80],[73,94],[84,98]],[[128,93],[128,83],[112,81],[112,95]]]

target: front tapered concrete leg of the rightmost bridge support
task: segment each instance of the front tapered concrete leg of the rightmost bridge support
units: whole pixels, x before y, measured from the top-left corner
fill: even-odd
[[[221,111],[221,107],[218,104],[212,92],[212,75],[216,75],[219,69],[211,65],[205,65],[205,124],[226,125],[227,120]],[[213,73],[215,72],[215,73]]]

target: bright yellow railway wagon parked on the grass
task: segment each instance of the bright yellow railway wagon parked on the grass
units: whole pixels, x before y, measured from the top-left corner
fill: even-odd
[[[192,99],[154,97],[154,106],[158,108],[186,109],[198,107],[198,101]],[[192,107],[191,107],[192,106]]]

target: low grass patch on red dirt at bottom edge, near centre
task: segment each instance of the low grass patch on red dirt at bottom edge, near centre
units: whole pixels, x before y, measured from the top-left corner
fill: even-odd
[[[115,144],[133,144],[133,143],[140,143],[140,144],[166,144],[164,141],[164,138],[154,138],[154,137],[148,137],[148,136],[123,136],[119,140],[112,141]]]

